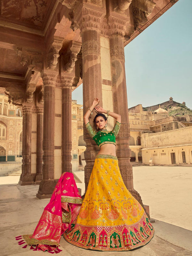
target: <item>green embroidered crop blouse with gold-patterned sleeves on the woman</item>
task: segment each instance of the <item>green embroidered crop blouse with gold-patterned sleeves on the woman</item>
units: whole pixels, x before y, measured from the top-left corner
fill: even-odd
[[[87,132],[92,137],[92,139],[97,143],[100,147],[103,144],[112,143],[115,144],[115,138],[119,132],[120,123],[116,121],[112,131],[96,131],[93,129],[90,123],[85,125]]]

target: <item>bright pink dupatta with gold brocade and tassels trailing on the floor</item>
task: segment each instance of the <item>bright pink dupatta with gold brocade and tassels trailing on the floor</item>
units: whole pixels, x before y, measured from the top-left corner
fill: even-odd
[[[33,235],[16,237],[18,243],[31,245],[33,250],[48,250],[51,253],[60,252],[58,249],[61,235],[70,230],[70,225],[76,219],[82,204],[82,198],[78,192],[74,176],[70,172],[64,172],[50,199],[49,204],[44,208],[42,216],[36,226]],[[21,241],[21,239],[24,240]],[[33,248],[36,245],[36,248]]]

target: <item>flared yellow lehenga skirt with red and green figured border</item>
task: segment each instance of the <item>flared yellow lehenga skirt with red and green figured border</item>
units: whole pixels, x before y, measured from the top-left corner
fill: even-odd
[[[154,229],[124,185],[115,156],[98,155],[77,219],[63,237],[78,247],[128,251],[147,244]]]

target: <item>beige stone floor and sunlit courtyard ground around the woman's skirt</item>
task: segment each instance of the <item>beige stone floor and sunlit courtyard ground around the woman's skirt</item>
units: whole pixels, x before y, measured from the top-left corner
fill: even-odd
[[[76,172],[83,180],[84,173]],[[129,252],[89,251],[60,240],[60,256],[187,256],[192,255],[192,168],[168,166],[133,167],[134,188],[150,206],[155,236],[149,244]],[[19,178],[0,177],[0,255],[50,255],[22,249],[15,236],[31,234],[49,199],[36,198],[38,185],[16,185]],[[77,184],[84,191],[84,184]]]

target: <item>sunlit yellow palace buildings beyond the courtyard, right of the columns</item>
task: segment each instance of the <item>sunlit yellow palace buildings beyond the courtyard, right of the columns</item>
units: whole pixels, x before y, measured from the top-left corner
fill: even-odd
[[[160,105],[147,108],[137,105],[128,109],[131,161],[142,159],[143,164],[158,165],[192,164],[192,115],[169,116],[168,111],[160,107],[179,104],[171,97]]]

